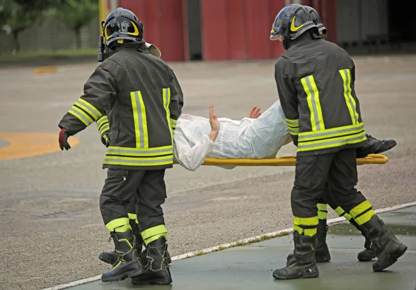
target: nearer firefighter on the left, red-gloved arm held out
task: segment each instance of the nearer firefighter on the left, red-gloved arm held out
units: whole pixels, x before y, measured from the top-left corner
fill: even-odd
[[[60,148],[71,148],[69,136],[107,116],[110,144],[103,162],[108,170],[100,208],[119,259],[101,280],[130,277],[133,284],[171,284],[161,205],[166,198],[164,173],[173,167],[172,128],[181,114],[183,96],[172,69],[148,53],[143,24],[134,13],[123,8],[111,12],[103,22],[103,36],[107,58],[60,121]],[[147,248],[146,265],[139,260],[128,217],[133,194],[137,194],[139,231]]]

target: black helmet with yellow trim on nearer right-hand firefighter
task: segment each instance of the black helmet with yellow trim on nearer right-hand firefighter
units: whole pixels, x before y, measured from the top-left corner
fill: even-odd
[[[289,4],[277,14],[270,31],[270,40],[284,38],[295,40],[309,29],[318,33],[318,28],[313,23],[308,10],[300,4]]]

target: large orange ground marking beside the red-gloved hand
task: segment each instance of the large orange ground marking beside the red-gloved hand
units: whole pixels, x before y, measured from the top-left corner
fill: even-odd
[[[0,132],[0,140],[10,143],[0,148],[0,160],[33,157],[60,151],[57,133]],[[80,139],[69,137],[71,148]]]

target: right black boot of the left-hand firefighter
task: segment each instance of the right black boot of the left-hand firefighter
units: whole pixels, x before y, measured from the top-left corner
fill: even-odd
[[[166,239],[160,237],[147,245],[147,261],[146,270],[137,277],[132,277],[134,285],[168,285],[172,283],[171,271],[166,258],[168,244]]]

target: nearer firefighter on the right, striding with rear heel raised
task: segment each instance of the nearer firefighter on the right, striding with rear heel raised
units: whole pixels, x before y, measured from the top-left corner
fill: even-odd
[[[297,146],[291,193],[295,262],[274,271],[276,279],[318,277],[317,204],[326,185],[336,204],[374,244],[378,258],[374,271],[394,264],[407,250],[355,188],[356,148],[367,140],[354,91],[355,66],[343,49],[317,34],[311,15],[299,4],[282,8],[270,33],[270,39],[286,49],[276,62],[275,80]]]

